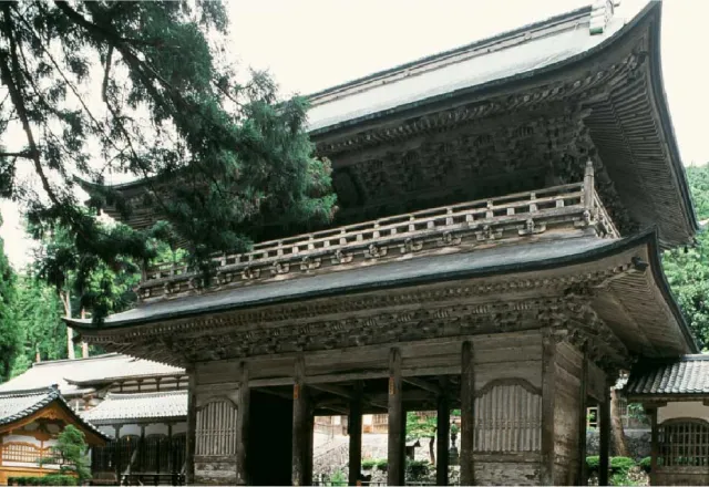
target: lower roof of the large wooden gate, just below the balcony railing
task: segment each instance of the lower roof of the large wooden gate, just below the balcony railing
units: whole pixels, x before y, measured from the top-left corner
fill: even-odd
[[[104,323],[66,320],[86,336],[138,340],[136,329],[160,331],[175,320],[240,312],[274,304],[315,299],[357,299],[364,292],[424,287],[501,276],[583,276],[638,260],[640,270],[614,278],[598,290],[592,307],[628,350],[641,356],[678,356],[697,351],[696,343],[671,296],[661,270],[654,231],[626,239],[568,238],[510,245],[470,252],[420,257],[288,281],[138,304],[109,317]],[[193,322],[197,327],[196,321]],[[153,332],[151,332],[153,333]],[[141,333],[142,334],[142,333]],[[113,339],[111,339],[113,340]],[[140,339],[142,340],[142,339]]]

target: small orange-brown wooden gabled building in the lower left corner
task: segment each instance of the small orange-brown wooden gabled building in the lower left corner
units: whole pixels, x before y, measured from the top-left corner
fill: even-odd
[[[0,392],[0,485],[11,477],[43,476],[59,465],[43,464],[66,425],[83,432],[86,443],[102,447],[111,439],[74,412],[56,386]]]

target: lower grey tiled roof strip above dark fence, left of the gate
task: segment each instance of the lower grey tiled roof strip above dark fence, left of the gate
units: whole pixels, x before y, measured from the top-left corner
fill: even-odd
[[[145,392],[137,394],[106,394],[93,410],[84,413],[91,422],[112,419],[142,419],[157,417],[186,417],[187,391]]]

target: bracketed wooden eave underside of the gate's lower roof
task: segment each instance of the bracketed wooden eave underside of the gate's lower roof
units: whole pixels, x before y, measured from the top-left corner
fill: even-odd
[[[659,262],[648,238],[612,247],[595,259],[556,267],[547,262],[537,270],[520,266],[517,271],[329,298],[194,310],[186,318],[153,317],[144,324],[70,324],[107,350],[183,366],[538,329],[588,346],[616,366],[628,366],[633,356],[693,351],[676,304],[658,281],[661,271],[651,267]]]

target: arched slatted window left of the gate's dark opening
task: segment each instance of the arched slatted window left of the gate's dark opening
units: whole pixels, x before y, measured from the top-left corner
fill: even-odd
[[[236,454],[236,407],[228,401],[215,401],[197,410],[195,455]]]

